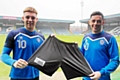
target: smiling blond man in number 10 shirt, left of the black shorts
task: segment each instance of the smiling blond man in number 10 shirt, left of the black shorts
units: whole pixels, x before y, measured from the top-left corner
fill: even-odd
[[[13,30],[7,35],[1,59],[11,66],[11,80],[39,80],[39,70],[28,66],[27,62],[44,41],[44,36],[35,31],[37,14],[35,8],[25,8],[22,16],[24,27]],[[11,51],[13,51],[12,58]]]

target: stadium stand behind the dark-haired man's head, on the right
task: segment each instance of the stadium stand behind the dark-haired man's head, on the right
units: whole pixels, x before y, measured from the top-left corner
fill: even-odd
[[[82,19],[82,20],[79,20],[79,22],[88,24],[88,20],[89,20],[89,18]],[[106,16],[104,16],[104,20],[105,20],[105,25],[103,28],[105,31],[107,31],[111,34],[114,34],[114,35],[120,35],[120,29],[118,29],[118,28],[120,28],[120,13],[106,15]],[[86,34],[88,32],[90,32],[89,26],[88,26],[88,30],[85,31],[84,34]]]

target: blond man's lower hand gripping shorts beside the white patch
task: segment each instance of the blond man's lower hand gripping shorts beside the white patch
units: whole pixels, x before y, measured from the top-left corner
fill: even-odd
[[[15,63],[13,63],[13,66],[15,68],[25,68],[28,65],[28,62],[23,60],[23,59],[19,59],[17,60]]]

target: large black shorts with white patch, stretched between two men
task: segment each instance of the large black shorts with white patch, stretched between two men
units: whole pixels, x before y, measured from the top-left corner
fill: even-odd
[[[76,43],[63,42],[54,36],[45,40],[28,63],[49,76],[61,67],[67,80],[93,72]]]

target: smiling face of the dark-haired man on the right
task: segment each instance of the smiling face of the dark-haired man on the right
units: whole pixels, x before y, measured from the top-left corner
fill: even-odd
[[[100,15],[94,15],[89,20],[89,25],[92,29],[92,33],[95,34],[101,32],[103,24],[104,24],[104,20]]]

